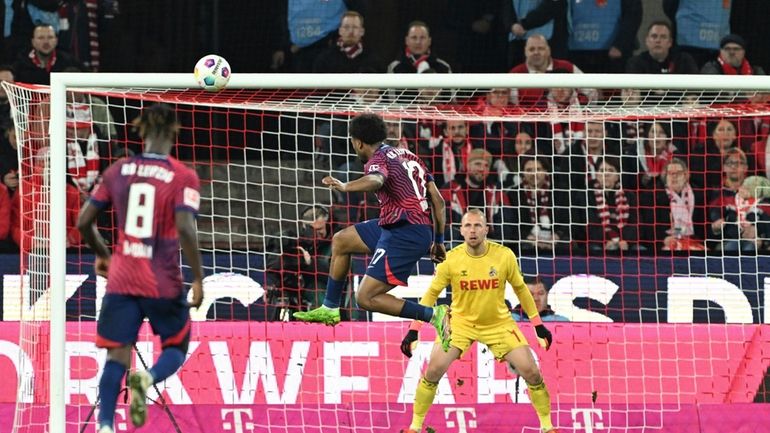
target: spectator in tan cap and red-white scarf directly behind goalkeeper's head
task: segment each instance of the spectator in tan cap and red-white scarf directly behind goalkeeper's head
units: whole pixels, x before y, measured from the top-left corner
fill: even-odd
[[[478,208],[487,216],[490,225],[490,237],[502,240],[504,234],[501,223],[503,208],[508,205],[508,197],[503,193],[497,178],[489,175],[492,154],[484,149],[473,149],[468,153],[468,172],[465,176],[456,176],[444,188],[441,195],[447,203],[447,238],[462,242],[460,221],[470,208]],[[506,225],[505,228],[510,228]]]

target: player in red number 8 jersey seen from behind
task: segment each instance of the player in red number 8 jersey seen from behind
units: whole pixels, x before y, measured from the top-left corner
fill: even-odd
[[[169,106],[154,105],[134,124],[144,141],[144,153],[108,168],[78,219],[83,239],[96,254],[95,271],[107,277],[96,337],[96,345],[107,349],[99,381],[99,433],[114,431],[120,383],[144,318],[160,335],[163,351],[152,368],[129,375],[135,426],[147,418],[147,389],[184,363],[190,341],[189,309],[203,301],[195,226],[199,180],[193,170],[169,156],[179,129],[176,116]],[[98,213],[110,204],[118,225],[114,254],[94,227]],[[179,267],[180,243],[193,275],[191,303]]]

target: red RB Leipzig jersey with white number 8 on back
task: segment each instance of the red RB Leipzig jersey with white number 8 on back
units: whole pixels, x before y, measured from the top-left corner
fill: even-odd
[[[197,213],[198,175],[174,158],[142,154],[108,168],[91,196],[100,208],[115,208],[107,293],[177,298],[182,294],[179,237],[174,214]]]

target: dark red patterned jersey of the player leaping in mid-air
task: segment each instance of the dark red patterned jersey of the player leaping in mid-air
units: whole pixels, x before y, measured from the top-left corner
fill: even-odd
[[[412,224],[433,224],[428,200],[428,182],[433,176],[425,163],[407,149],[383,144],[364,166],[364,173],[379,173],[385,184],[377,192],[380,201],[380,225],[407,220]]]

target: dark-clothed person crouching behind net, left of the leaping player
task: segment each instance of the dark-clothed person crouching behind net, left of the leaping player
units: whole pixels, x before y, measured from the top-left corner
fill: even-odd
[[[285,230],[268,242],[265,269],[267,291],[302,310],[323,300],[334,233],[323,206],[307,206],[299,216],[297,229]]]

